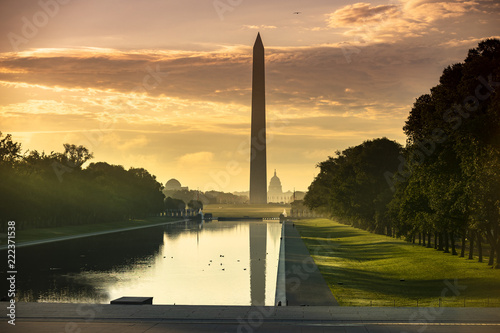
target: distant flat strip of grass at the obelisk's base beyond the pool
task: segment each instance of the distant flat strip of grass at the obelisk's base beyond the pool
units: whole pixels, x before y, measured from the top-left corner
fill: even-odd
[[[203,211],[212,213],[214,217],[279,217],[286,209],[290,213],[290,205],[228,205],[228,204],[212,204],[205,205]]]

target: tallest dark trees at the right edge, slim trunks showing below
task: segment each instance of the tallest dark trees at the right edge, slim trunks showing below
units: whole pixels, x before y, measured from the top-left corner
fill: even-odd
[[[438,248],[452,253],[455,237],[470,241],[481,250],[483,236],[492,253],[498,249],[500,181],[497,155],[500,147],[500,41],[485,40],[469,50],[464,63],[447,67],[431,94],[417,99],[405,133],[407,150],[421,161],[411,177],[420,177],[421,189],[433,211],[433,228]],[[485,166],[492,166],[491,168]],[[489,213],[486,213],[489,212]],[[411,223],[411,221],[406,221]],[[499,258],[500,259],[500,258]],[[490,264],[491,258],[490,258]]]

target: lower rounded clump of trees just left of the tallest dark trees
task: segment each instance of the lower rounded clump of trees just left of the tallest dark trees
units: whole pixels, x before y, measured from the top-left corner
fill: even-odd
[[[396,172],[400,154],[401,146],[386,138],[337,152],[319,164],[305,204],[310,209],[328,206],[332,216],[356,227],[390,232],[392,192],[384,174]]]

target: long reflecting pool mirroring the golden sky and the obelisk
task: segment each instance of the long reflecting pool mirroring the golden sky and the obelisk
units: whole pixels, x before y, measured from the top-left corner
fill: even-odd
[[[277,222],[182,222],[19,248],[19,300],[274,305],[280,235]]]

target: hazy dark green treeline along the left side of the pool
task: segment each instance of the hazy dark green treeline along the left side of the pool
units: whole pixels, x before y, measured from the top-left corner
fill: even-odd
[[[125,170],[92,158],[83,146],[29,151],[0,133],[0,230],[122,221],[165,210],[162,185],[141,168]]]

